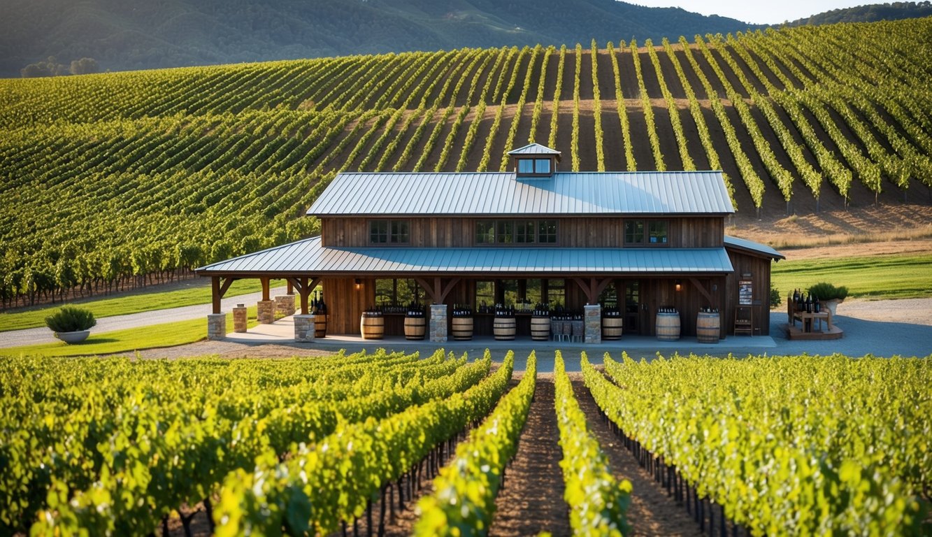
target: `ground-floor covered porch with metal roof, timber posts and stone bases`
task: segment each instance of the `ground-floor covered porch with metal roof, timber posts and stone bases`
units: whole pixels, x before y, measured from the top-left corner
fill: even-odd
[[[298,341],[314,338],[321,314],[326,337],[359,337],[366,312],[381,318],[383,337],[402,337],[411,306],[424,312],[426,338],[435,342],[453,338],[459,316],[472,318],[471,337],[494,337],[497,309],[514,318],[516,338],[532,337],[541,310],[555,320],[582,321],[578,339],[588,343],[602,340],[606,317],[620,319],[614,324],[625,336],[656,336],[660,313],[668,311],[678,315],[683,337],[696,335],[698,314],[706,310],[717,313],[719,337],[730,333],[724,320],[733,264],[724,247],[336,248],[313,237],[198,271],[212,278],[214,338],[226,337],[220,298],[242,278],[260,279],[264,290],[269,279],[288,282]],[[260,308],[260,323],[274,320],[263,319]]]

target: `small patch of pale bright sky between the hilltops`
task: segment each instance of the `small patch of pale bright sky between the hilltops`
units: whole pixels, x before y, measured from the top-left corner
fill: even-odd
[[[731,17],[751,24],[778,24],[796,21],[816,13],[841,7],[865,6],[881,0],[624,0],[647,7],[682,7],[703,15]]]

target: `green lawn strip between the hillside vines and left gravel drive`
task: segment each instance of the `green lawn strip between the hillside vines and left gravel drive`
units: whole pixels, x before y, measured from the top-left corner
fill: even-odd
[[[199,278],[182,284],[185,285],[184,289],[174,291],[147,289],[114,297],[73,300],[68,304],[77,304],[87,308],[94,313],[94,317],[110,317],[141,311],[167,310],[169,308],[211,303],[211,282],[209,279]],[[271,287],[281,285],[284,285],[281,280],[272,280],[271,282]],[[259,291],[262,291],[262,284],[258,280],[238,280],[230,285],[230,288],[226,291],[226,296],[246,295]],[[62,305],[59,304],[30,310],[18,310],[13,313],[0,313],[0,332],[45,326],[46,317],[61,307]]]

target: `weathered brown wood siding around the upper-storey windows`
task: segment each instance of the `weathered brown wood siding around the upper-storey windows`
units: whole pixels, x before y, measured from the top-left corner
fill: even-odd
[[[369,221],[376,218],[323,218],[324,246],[360,247],[369,243]],[[541,217],[540,219],[545,219]],[[480,218],[408,218],[411,240],[416,248],[471,248],[475,244],[475,224]],[[622,248],[624,218],[555,218],[557,242],[563,248]],[[643,218],[651,220],[651,218]],[[721,216],[655,218],[668,222],[667,236],[672,248],[718,248],[725,232]],[[546,246],[551,246],[550,244]],[[401,246],[404,247],[404,246]]]

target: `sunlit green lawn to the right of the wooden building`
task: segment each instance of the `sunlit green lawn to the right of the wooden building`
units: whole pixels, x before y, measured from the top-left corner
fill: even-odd
[[[848,288],[848,296],[921,298],[932,296],[932,255],[871,255],[836,259],[783,260],[773,265],[774,285],[786,300],[793,289],[818,282]]]

